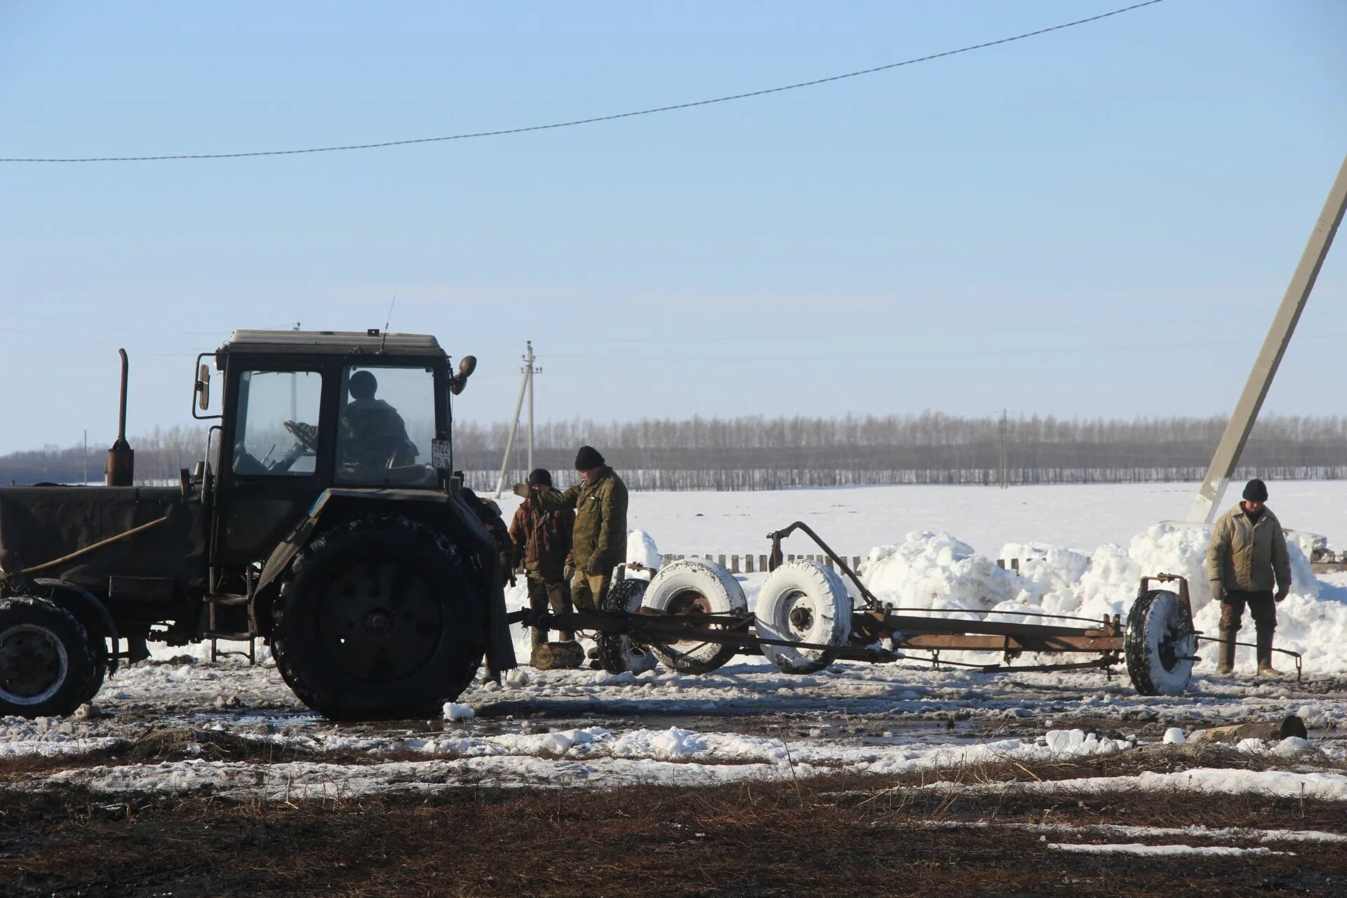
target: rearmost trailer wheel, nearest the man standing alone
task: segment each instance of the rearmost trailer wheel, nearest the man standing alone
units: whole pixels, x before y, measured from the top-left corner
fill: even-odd
[[[1150,590],[1127,614],[1123,653],[1127,676],[1141,695],[1179,695],[1192,676],[1197,634],[1179,594]]]

